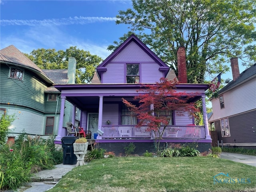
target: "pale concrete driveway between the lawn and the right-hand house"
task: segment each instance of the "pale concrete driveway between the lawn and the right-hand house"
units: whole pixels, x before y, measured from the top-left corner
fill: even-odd
[[[232,160],[239,163],[244,163],[251,166],[256,166],[256,156],[252,156],[252,155],[222,152],[220,154],[220,158]]]

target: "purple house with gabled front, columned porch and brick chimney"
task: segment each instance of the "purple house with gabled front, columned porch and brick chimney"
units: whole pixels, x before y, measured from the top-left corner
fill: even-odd
[[[196,142],[200,152],[208,151],[211,147],[205,103],[208,85],[188,84],[184,47],[178,49],[177,55],[180,84],[176,91],[196,92],[192,102],[202,99],[204,126],[193,125],[194,119],[188,114],[180,116],[174,112],[162,143]],[[172,80],[176,75],[144,43],[131,35],[96,68],[91,84],[55,85],[61,91],[62,99],[56,144],[61,144],[61,138],[67,135],[66,124],[62,122],[64,101],[68,100],[74,105],[73,116],[75,108],[81,110],[80,127],[92,133],[92,142],[97,142],[100,148],[116,155],[124,154],[124,147],[132,142],[136,146],[136,154],[154,151],[153,135],[146,126],[136,126],[137,119],[122,103],[122,98],[134,102],[134,96],[139,94],[136,90],[143,88],[144,84],[154,84],[162,77]]]

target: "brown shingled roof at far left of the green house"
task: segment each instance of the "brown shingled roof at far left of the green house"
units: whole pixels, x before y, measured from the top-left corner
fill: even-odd
[[[20,52],[20,50],[18,50],[13,45],[10,45],[0,50],[0,61],[5,62],[6,64],[12,64],[16,67],[20,65],[23,68],[32,70],[47,83],[53,84],[52,80],[50,80],[36,64],[34,64],[29,58],[27,58],[22,52]]]

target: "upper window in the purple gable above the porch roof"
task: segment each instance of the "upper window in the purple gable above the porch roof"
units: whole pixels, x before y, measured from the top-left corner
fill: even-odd
[[[140,73],[139,64],[127,64],[126,65],[126,83],[139,83]]]

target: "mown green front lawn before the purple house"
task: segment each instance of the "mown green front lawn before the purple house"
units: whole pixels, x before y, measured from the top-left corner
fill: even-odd
[[[214,184],[214,175],[250,184]],[[210,157],[120,157],[78,166],[48,192],[252,192],[256,167]]]

